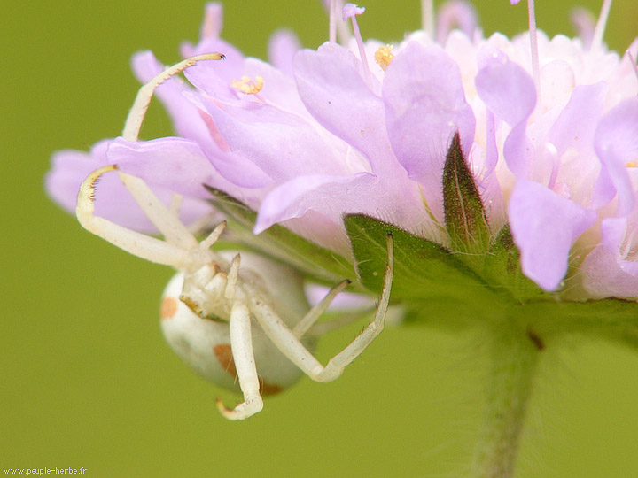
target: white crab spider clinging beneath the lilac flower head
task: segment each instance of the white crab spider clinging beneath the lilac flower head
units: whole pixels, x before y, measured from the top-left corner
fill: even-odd
[[[219,53],[188,58],[167,68],[144,85],[128,114],[122,137],[128,141],[137,141],[145,112],[154,89],[159,84],[199,60],[220,58],[223,55]],[[240,270],[242,259],[239,254],[229,262],[210,249],[222,234],[225,223],[219,224],[206,239],[198,243],[179,220],[175,205],[168,209],[144,181],[128,174],[120,173],[121,181],[149,220],[164,235],[165,241],[97,217],[94,215],[93,204],[96,181],[102,174],[115,170],[117,166],[105,166],[89,174],[78,195],[77,218],[82,227],[124,251],[152,262],[173,266],[180,271],[169,282],[162,307],[162,316],[165,319],[170,316],[175,324],[168,325],[168,321],[163,320],[163,328],[169,343],[191,366],[222,385],[229,380],[226,376],[228,371],[220,374],[219,370],[211,371],[210,365],[217,363],[230,366],[228,352],[231,352],[235,371],[230,372],[237,374],[244,401],[230,410],[218,399],[217,405],[226,418],[243,420],[260,412],[263,407],[255,359],[260,363],[263,361],[260,370],[264,376],[266,373],[263,370],[274,370],[272,379],[265,377],[268,381],[273,381],[272,384],[266,382],[271,387],[283,388],[294,382],[300,373],[307,374],[317,382],[331,382],[338,378],[343,369],[383,329],[393,280],[392,235],[387,236],[388,263],[374,320],[343,351],[331,358],[326,366],[322,366],[308,351],[308,339],[302,339],[302,336],[313,326],[338,292],[346,288],[349,281],[339,283],[320,304],[308,310],[307,303],[304,303],[305,297],[303,301],[300,300],[303,296],[300,279],[294,278],[285,283],[281,277],[276,278],[276,268],[273,265],[263,266],[265,259],[261,259],[261,266]],[[249,255],[245,254],[244,257],[249,258]],[[251,258],[253,263],[255,260],[258,258]],[[291,277],[290,271],[288,273]],[[175,300],[177,298],[179,300]],[[210,350],[207,355],[202,354],[206,344],[213,346],[213,355]],[[218,348],[215,352],[216,345],[225,345],[225,348],[223,351]],[[276,358],[278,352],[287,360],[283,357]],[[222,355],[223,359],[220,358]]]

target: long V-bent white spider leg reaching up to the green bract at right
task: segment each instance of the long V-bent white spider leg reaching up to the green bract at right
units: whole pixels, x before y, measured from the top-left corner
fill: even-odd
[[[247,297],[250,300],[251,311],[259,321],[266,335],[276,344],[276,347],[296,366],[316,382],[331,382],[336,380],[344,368],[354,361],[363,350],[381,333],[385,323],[385,313],[390,302],[394,271],[394,253],[392,235],[387,235],[388,263],[385,267],[384,287],[379,298],[374,320],[370,322],[354,341],[338,352],[326,366],[319,361],[300,342],[299,338],[287,328],[272,309],[261,299],[259,293],[250,284],[244,284]]]

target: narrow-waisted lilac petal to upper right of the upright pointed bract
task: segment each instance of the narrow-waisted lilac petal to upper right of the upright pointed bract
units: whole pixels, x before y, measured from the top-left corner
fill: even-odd
[[[536,89],[525,70],[512,62],[488,62],[475,80],[478,96],[496,118],[510,125],[503,157],[512,173],[525,177],[532,158],[532,143],[525,134],[527,118],[536,105]]]

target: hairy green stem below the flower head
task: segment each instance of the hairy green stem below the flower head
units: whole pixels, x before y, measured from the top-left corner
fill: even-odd
[[[506,323],[491,343],[487,402],[471,478],[514,475],[525,411],[532,394],[538,356],[543,348],[531,330]]]

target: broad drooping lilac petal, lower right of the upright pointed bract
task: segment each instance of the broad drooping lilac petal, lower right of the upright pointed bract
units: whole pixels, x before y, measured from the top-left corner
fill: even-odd
[[[558,287],[572,243],[596,220],[594,211],[526,180],[517,181],[508,216],[523,273],[545,290]]]

